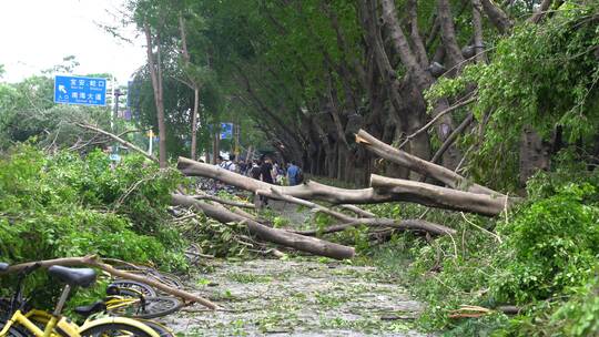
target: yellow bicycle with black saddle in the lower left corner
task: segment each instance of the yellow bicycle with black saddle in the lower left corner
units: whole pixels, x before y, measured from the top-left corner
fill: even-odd
[[[72,288],[77,286],[89,287],[95,282],[95,270],[90,268],[67,268],[62,266],[51,266],[48,273],[64,284],[62,295],[52,313],[37,309],[26,309],[27,303],[22,298],[22,282],[24,277],[39,268],[40,264],[33,264],[19,273],[17,290],[4,308],[6,317],[0,316],[0,337],[3,336],[140,336],[160,337],[148,325],[126,317],[103,317],[87,320],[82,326],[78,326],[67,317],[62,316],[62,308]],[[0,263],[0,273],[8,269],[8,264]],[[23,314],[24,312],[24,314]]]

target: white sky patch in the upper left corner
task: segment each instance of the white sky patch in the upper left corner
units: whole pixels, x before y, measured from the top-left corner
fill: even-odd
[[[0,64],[2,81],[17,82],[74,55],[73,74],[112,73],[126,84],[145,62],[144,39],[133,27],[113,38],[97,24],[118,24],[125,0],[0,0]]]

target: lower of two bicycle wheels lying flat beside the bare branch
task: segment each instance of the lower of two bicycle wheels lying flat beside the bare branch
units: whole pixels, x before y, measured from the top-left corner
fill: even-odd
[[[166,296],[145,297],[144,302],[145,304],[140,299],[126,306],[109,307],[108,312],[112,315],[132,318],[156,318],[172,314],[183,306],[181,300]]]

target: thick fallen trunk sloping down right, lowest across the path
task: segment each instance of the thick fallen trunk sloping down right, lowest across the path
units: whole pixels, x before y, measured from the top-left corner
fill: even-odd
[[[282,246],[292,247],[297,251],[337,259],[351,258],[355,254],[353,247],[347,247],[282,229],[271,228],[248,217],[235,214],[223,206],[216,204],[211,205],[182,194],[173,194],[172,203],[179,206],[195,207],[199,211],[202,211],[206,216],[215,218],[222,223],[243,222],[247,226],[250,233],[258,236],[260,238]]]

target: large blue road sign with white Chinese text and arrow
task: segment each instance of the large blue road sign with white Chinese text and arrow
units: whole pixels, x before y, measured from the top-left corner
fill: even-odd
[[[106,105],[106,79],[57,75],[54,103]]]

